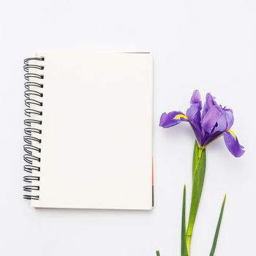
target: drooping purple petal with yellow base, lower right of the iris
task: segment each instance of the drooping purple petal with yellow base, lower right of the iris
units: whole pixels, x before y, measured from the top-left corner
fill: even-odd
[[[239,144],[238,138],[233,131],[227,130],[227,132],[224,132],[224,140],[227,149],[233,156],[241,157],[244,154],[244,146]]]

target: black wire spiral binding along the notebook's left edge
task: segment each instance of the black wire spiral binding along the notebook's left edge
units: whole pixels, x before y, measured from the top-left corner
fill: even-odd
[[[44,75],[39,75],[37,72],[33,72],[33,70],[43,70],[44,66],[42,65],[42,61],[44,61],[44,57],[34,57],[28,58],[24,60],[24,71],[26,72],[25,77],[25,115],[26,119],[24,120],[24,124],[26,128],[24,129],[24,142],[23,146],[25,154],[23,156],[26,165],[24,165],[24,170],[27,173],[30,173],[29,176],[24,176],[23,181],[30,183],[30,185],[26,185],[23,187],[25,192],[31,192],[32,190],[39,190],[39,186],[32,186],[32,181],[39,181],[39,176],[33,176],[32,172],[38,173],[40,171],[40,167],[37,166],[36,162],[40,162],[41,159],[38,157],[38,153],[41,152],[41,148],[38,146],[34,146],[34,144],[40,144],[41,139],[37,136],[42,134],[42,129],[40,129],[40,125],[42,124],[42,120],[40,120],[40,116],[42,116],[42,97],[43,94],[40,92],[40,89],[43,88],[42,80]],[[31,63],[32,61],[32,63]],[[37,63],[37,64],[35,64]],[[39,90],[39,91],[38,91]],[[33,99],[31,98],[33,97]],[[37,109],[34,109],[36,107]],[[39,110],[38,110],[39,109]],[[31,114],[38,116],[38,118],[31,118]],[[37,153],[37,156],[34,155]],[[23,195],[23,198],[29,200],[39,200],[39,195]]]

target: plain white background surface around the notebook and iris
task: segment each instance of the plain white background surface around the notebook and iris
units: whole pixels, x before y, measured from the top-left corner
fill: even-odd
[[[192,254],[209,254],[222,197],[216,255],[254,255],[256,4],[249,0],[1,1],[0,255],[180,255],[181,197],[191,189],[187,124],[158,127],[186,110],[193,89],[233,108],[240,159],[222,138],[207,148]],[[146,49],[154,55],[153,211],[34,209],[23,191],[23,59],[42,48]]]

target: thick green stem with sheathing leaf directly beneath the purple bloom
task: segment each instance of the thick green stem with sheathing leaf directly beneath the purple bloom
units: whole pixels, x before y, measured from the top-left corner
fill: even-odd
[[[197,209],[200,203],[200,197],[203,190],[203,181],[206,173],[206,148],[198,146],[195,141],[193,165],[192,165],[192,199],[189,211],[189,224],[187,227],[187,249],[190,254],[190,244],[197,216]]]

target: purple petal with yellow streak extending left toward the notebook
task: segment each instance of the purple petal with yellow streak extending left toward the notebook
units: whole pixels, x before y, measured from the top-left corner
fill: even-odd
[[[180,111],[172,111],[170,113],[162,113],[159,126],[163,128],[173,127],[181,121],[189,121],[188,117]]]

